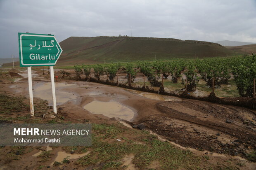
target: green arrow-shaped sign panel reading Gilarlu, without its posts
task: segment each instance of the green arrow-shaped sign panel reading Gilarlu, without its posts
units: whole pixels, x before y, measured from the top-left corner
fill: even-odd
[[[19,33],[21,67],[55,65],[61,53],[54,35]]]

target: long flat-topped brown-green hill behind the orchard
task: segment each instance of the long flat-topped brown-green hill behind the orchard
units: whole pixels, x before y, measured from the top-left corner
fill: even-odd
[[[171,38],[69,37],[59,44],[57,65],[237,55],[220,44]]]

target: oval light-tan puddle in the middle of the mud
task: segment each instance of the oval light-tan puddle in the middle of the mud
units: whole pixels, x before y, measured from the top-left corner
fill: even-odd
[[[101,102],[101,101],[92,101],[83,107],[92,114],[102,114],[109,118],[119,117],[130,121],[133,119],[135,112],[132,109],[122,105],[119,102],[110,101],[110,102]]]

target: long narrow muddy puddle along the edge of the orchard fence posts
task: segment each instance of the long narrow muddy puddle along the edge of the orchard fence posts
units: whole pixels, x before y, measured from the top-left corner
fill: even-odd
[[[156,94],[156,93],[148,93],[148,92],[142,92],[142,91],[137,91],[137,90],[130,90],[130,89],[125,89],[127,91],[130,91],[132,93],[138,94],[140,96],[143,96],[145,98],[150,98],[154,100],[161,100],[161,101],[182,101],[182,98],[177,98],[174,96],[169,96],[169,95],[161,95],[161,94]]]

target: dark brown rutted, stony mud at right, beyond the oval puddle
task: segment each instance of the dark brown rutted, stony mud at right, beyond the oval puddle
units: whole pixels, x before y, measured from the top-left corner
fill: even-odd
[[[156,107],[164,115],[146,116],[140,122],[183,147],[232,156],[256,149],[254,111],[194,100],[159,102]]]

